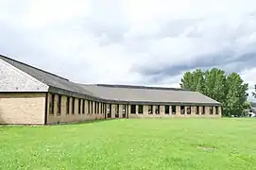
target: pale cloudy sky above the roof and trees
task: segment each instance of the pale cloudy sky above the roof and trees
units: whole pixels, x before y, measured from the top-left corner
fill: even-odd
[[[250,93],[255,20],[254,0],[1,0],[0,54],[80,83],[179,87],[217,67]]]

